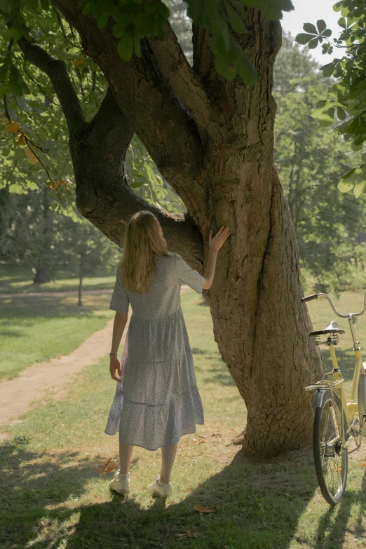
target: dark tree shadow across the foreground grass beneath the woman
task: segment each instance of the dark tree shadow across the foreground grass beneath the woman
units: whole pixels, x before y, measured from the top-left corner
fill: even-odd
[[[119,496],[109,492],[111,475],[98,476],[99,456],[36,452],[22,438],[0,456],[2,549],[287,549],[317,487],[311,452],[258,463],[239,451],[187,495],[173,480],[177,503],[134,491],[134,461],[131,493]],[[202,515],[196,503],[219,510]],[[195,537],[177,538],[184,529]]]

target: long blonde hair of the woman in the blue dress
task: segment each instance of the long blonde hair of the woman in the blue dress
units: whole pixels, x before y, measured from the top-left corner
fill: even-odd
[[[161,236],[158,219],[148,210],[130,217],[119,263],[122,285],[135,294],[146,294],[156,276],[158,255],[168,255],[165,238]]]

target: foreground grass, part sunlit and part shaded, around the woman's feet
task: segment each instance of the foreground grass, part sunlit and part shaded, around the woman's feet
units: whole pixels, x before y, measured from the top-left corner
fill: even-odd
[[[351,301],[358,304],[360,294],[342,299],[341,310],[342,304],[354,309]],[[182,294],[205,425],[179,441],[172,498],[145,494],[160,470],[159,450],[134,449],[127,498],[109,491],[112,473],[97,472],[109,458],[118,466],[118,435],[104,434],[114,396],[106,357],[70,380],[62,398],[48,395],[22,423],[8,426],[0,452],[2,549],[366,547],[362,448],[350,456],[344,499],[330,508],[317,487],[311,449],[255,462],[231,445],[245,424],[245,406],[217,351],[209,309],[200,302],[195,292]],[[309,309],[316,327],[333,318],[327,302],[311,302]],[[195,438],[205,442],[193,444]],[[196,503],[219,510],[201,515]],[[177,538],[184,529],[194,537]]]

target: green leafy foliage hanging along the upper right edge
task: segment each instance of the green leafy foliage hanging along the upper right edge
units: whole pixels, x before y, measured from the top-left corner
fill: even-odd
[[[332,53],[334,48],[344,54],[322,67],[323,76],[334,76],[337,82],[330,86],[330,97],[320,100],[312,116],[321,126],[330,126],[338,119],[335,133],[351,143],[353,151],[360,151],[366,141],[366,4],[363,0],[341,0],[333,9],[341,15],[338,39],[330,40],[332,30],[320,19],[316,26],[305,23],[305,32],[296,40],[311,49],[322,44],[323,54]],[[339,190],[353,191],[356,198],[366,192],[366,153],[362,163],[341,178]]]

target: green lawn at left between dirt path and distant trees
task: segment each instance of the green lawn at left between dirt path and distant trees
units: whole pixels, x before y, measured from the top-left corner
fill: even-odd
[[[0,378],[74,351],[107,325],[110,295],[0,298]]]

